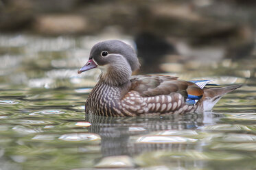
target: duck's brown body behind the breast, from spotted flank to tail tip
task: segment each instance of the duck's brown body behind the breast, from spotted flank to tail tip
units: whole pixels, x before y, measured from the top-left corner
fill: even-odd
[[[154,75],[134,76],[130,82],[129,92],[121,99],[121,113],[127,116],[210,110],[220,97],[241,86],[206,88],[209,80],[186,82],[177,77]]]

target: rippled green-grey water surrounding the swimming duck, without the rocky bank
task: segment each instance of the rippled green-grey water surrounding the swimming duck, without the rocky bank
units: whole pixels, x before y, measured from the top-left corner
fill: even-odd
[[[77,70],[106,38],[0,36],[0,169],[256,169],[255,57],[172,63],[181,79],[244,84],[212,112],[84,117],[99,71]]]

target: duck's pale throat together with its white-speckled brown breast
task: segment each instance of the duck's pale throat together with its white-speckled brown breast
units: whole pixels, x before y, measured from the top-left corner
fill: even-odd
[[[121,115],[118,111],[121,109],[120,100],[130,89],[132,70],[126,59],[120,60],[100,67],[100,81],[86,100],[86,113],[102,116]]]

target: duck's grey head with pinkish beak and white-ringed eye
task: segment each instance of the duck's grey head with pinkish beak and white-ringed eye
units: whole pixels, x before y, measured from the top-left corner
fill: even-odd
[[[78,73],[99,68],[102,70],[100,78],[116,85],[128,81],[139,66],[137,53],[130,45],[120,40],[105,40],[93,46],[88,62]]]

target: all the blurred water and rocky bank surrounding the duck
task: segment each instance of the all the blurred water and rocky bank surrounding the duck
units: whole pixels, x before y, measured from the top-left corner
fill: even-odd
[[[256,169],[255,0],[0,0],[0,169]],[[85,117],[100,40],[138,73],[243,84],[207,114]]]

